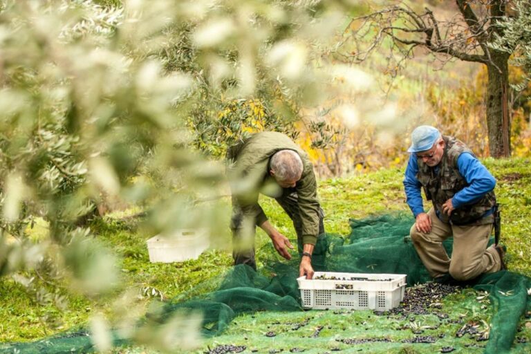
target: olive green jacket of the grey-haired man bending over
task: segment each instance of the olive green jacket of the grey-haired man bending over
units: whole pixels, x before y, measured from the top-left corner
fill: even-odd
[[[244,218],[254,218],[256,225],[268,220],[258,204],[259,194],[279,198],[286,192],[269,174],[270,158],[279,150],[293,150],[301,157],[304,169],[295,192],[302,220],[302,243],[315,245],[319,232],[319,202],[313,165],[308,154],[283,133],[255,133],[227,152],[227,176],[232,190],[232,203],[241,208]]]

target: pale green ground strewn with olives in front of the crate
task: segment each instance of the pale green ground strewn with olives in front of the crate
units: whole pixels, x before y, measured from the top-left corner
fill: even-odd
[[[324,353],[339,349],[341,353],[438,353],[441,348],[453,346],[455,353],[482,353],[486,342],[465,335],[456,338],[455,333],[465,324],[477,324],[479,331],[485,330],[490,322],[491,308],[486,302],[476,300],[477,293],[472,289],[449,295],[436,310],[448,315],[440,319],[434,313],[427,315],[375,315],[370,310],[329,310],[300,313],[252,313],[241,315],[220,337],[207,339],[195,353],[203,353],[208,348],[232,344],[245,346],[249,351],[268,353],[288,353],[293,348],[304,348],[304,353]],[[485,323],[482,322],[485,321]],[[302,324],[297,328],[297,324]],[[531,330],[523,330],[519,337],[531,339]],[[315,330],[322,327],[319,335]],[[274,337],[265,334],[274,331]],[[422,331],[422,333],[414,333]],[[437,339],[434,344],[407,344],[402,340],[415,335],[431,336]],[[309,339],[312,337],[311,339]],[[392,342],[348,344],[342,339],[392,339]],[[528,353],[528,348],[517,345],[512,353]]]

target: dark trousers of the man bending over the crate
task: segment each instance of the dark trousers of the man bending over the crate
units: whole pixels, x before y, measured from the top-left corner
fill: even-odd
[[[302,253],[302,219],[299,212],[299,200],[296,192],[289,192],[283,194],[283,196],[275,199],[277,203],[284,209],[286,214],[291,218],[293,222],[293,227],[297,233],[297,248],[299,254]],[[324,235],[324,212],[323,209],[319,206],[319,236]],[[242,216],[241,211],[237,205],[233,205],[233,215],[231,221],[231,230],[232,230],[232,243],[233,245],[242,244]],[[247,264],[250,265],[254,270],[257,269],[257,263],[254,259],[254,234],[256,232],[256,223],[253,224],[251,230],[248,233],[247,237],[250,239],[248,241],[249,247],[239,248],[236,247],[232,251],[232,258],[234,258],[234,265],[237,264]]]

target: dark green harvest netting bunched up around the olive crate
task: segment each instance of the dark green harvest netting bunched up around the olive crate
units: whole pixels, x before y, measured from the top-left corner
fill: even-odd
[[[408,234],[412,223],[411,216],[405,214],[373,216],[361,221],[351,221],[352,232],[347,239],[330,234],[319,239],[314,251],[314,268],[335,272],[407,274],[409,286],[425,283],[430,280],[429,276],[409,241]],[[450,251],[451,240],[447,241],[445,246]],[[270,249],[257,253],[259,258],[264,258],[264,254],[272,254]],[[218,290],[187,301],[169,301],[162,306],[162,310],[148,314],[145,322],[162,326],[176,311],[200,311],[203,313],[204,337],[218,338],[223,337],[223,332],[229,328],[235,317],[244,313],[262,311],[263,316],[272,311],[301,313],[300,292],[296,281],[297,261],[293,259],[279,263],[266,259],[260,272],[254,272],[246,265],[234,267],[221,281]],[[263,274],[274,276],[266,277]],[[484,352],[510,352],[519,321],[526,311],[531,310],[531,297],[528,295],[531,279],[521,274],[502,271],[484,274],[468,285],[490,294],[492,323]],[[333,315],[331,311],[328,313],[329,316],[339,316]],[[304,340],[308,343],[309,339]],[[126,339],[120,339],[116,335],[115,346],[129,344]],[[375,350],[378,345],[385,344],[371,345]],[[525,348],[519,353],[530,350],[528,344],[522,345],[525,345]],[[317,342],[315,346],[318,346]],[[0,353],[59,354],[93,351],[95,348],[87,330],[62,333],[31,343],[0,344]]]

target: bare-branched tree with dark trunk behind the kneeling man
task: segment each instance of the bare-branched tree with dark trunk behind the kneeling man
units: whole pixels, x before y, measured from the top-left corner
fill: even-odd
[[[434,10],[393,1],[382,8],[371,8],[367,15],[356,17],[350,36],[344,43],[353,44],[346,54],[356,62],[364,61],[382,44],[393,55],[400,55],[398,65],[412,58],[417,48],[425,48],[443,63],[451,59],[483,64],[487,67],[486,120],[491,156],[510,156],[510,116],[507,106],[508,60],[511,48],[491,46],[503,37],[507,20],[506,0],[456,0],[455,13],[438,18]],[[517,15],[512,13],[512,15]],[[370,38],[368,44],[366,39]],[[507,50],[509,49],[509,50]]]

